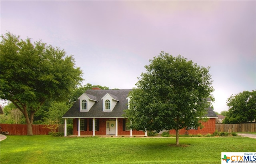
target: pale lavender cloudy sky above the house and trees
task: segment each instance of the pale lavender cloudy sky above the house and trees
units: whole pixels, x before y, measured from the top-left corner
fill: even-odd
[[[256,1],[0,1],[10,32],[73,55],[83,84],[132,89],[161,51],[208,67],[214,111],[256,89]]]

